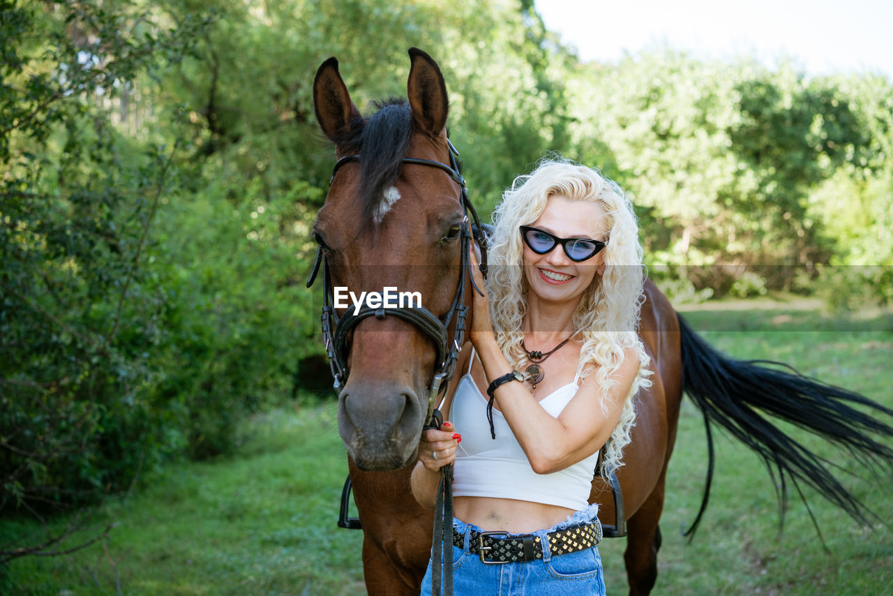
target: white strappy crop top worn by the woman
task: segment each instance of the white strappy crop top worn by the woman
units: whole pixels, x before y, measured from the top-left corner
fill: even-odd
[[[541,399],[539,405],[557,418],[577,389],[576,382],[568,383]],[[466,373],[456,387],[449,415],[456,432],[462,434],[455,453],[453,494],[530,500],[575,511],[587,508],[598,452],[558,472],[537,474],[497,409],[493,410],[497,438],[491,438],[487,402],[472,375]]]

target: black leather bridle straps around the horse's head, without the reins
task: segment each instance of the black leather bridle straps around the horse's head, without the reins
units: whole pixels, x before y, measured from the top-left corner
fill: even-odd
[[[478,242],[478,246],[480,246],[480,272],[483,273],[485,277],[488,269],[487,236],[481,229],[478,214],[475,211],[471,200],[468,198],[468,190],[465,188],[465,179],[459,172],[459,166],[455,160],[455,155],[459,155],[459,152],[455,150],[453,143],[451,143],[449,139],[447,139],[447,144],[449,145],[449,165],[441,164],[440,162],[429,159],[418,159],[416,157],[403,158],[404,164],[425,165],[447,172],[450,179],[455,181],[461,190],[460,203],[465,211],[465,218],[462,223],[461,243],[461,271],[463,273],[460,277],[453,303],[450,305],[447,314],[443,318],[438,317],[438,315],[432,313],[425,306],[415,306],[413,304],[410,304],[409,306],[379,308],[373,308],[363,304],[358,311],[355,311],[353,308],[348,308],[343,315],[339,316],[335,311],[334,306],[332,306],[331,276],[329,265],[326,263],[325,256],[322,253],[322,247],[319,247],[316,250],[316,260],[313,263],[313,271],[310,273],[310,277],[307,280],[307,287],[310,288],[313,285],[313,281],[316,280],[320,265],[322,265],[322,340],[325,344],[326,354],[329,357],[329,365],[332,377],[335,379],[336,390],[346,384],[347,377],[350,374],[350,369],[347,366],[347,336],[357,324],[363,321],[363,319],[370,316],[374,316],[377,319],[383,319],[388,315],[396,316],[404,319],[408,323],[412,323],[434,342],[434,345],[437,348],[437,358],[435,362],[437,362],[438,365],[434,370],[434,375],[428,390],[428,414],[425,417],[426,420],[430,419],[434,411],[438,394],[447,389],[447,382],[453,377],[455,361],[459,356],[459,350],[462,348],[465,338],[465,319],[468,314],[468,306],[464,305],[465,292],[467,291],[467,281],[464,272],[471,265],[469,250],[471,248],[472,236]],[[332,176],[329,181],[330,186],[331,182],[335,180],[335,175],[338,173],[341,166],[359,160],[360,155],[345,155],[338,159],[338,162],[336,162],[334,168],[332,168]],[[472,216],[472,221],[474,222],[473,226],[469,225],[469,214]],[[472,276],[468,275],[467,279],[472,280],[472,287],[474,290],[482,294],[482,290],[474,285]],[[449,327],[450,324],[453,323],[454,318],[455,328],[453,338],[450,340]]]

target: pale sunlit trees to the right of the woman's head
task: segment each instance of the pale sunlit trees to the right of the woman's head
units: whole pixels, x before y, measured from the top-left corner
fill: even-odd
[[[803,290],[818,265],[854,248],[891,263],[889,232],[875,223],[890,213],[888,80],[808,80],[787,66],[663,51],[589,65],[571,86],[572,139],[594,147],[586,161],[609,155],[605,173],[634,198],[658,281],[682,273],[722,296],[740,293],[747,274],[766,289]],[[846,236],[855,247],[841,245]]]

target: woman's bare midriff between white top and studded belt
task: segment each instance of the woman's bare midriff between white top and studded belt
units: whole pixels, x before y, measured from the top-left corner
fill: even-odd
[[[456,497],[453,513],[486,532],[531,533],[563,522],[573,509],[527,500]]]

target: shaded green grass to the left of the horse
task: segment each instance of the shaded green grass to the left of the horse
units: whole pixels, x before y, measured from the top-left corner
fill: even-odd
[[[118,581],[125,594],[363,592],[362,533],[335,525],[347,465],[333,406],[255,418],[238,457],[171,466],[99,510],[97,527],[119,524],[104,544],[16,560],[0,592],[114,594]],[[0,523],[4,542],[38,529]]]

